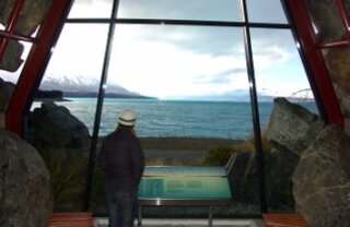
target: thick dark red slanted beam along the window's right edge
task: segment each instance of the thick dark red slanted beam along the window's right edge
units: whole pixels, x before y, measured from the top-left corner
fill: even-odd
[[[290,17],[296,29],[301,48],[305,53],[305,60],[307,61],[315,85],[319,92],[319,101],[324,107],[326,120],[329,123],[343,128],[343,117],[328,75],[324,57],[317,48],[306,7],[303,0],[285,0],[285,3],[291,12]]]

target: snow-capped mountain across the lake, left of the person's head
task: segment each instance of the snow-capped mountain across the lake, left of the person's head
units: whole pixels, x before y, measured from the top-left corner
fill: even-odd
[[[100,82],[94,79],[85,79],[81,76],[63,76],[60,79],[45,77],[42,81],[39,89],[42,91],[61,91],[63,97],[97,97]],[[130,92],[116,84],[107,84],[105,97],[114,98],[154,98]]]

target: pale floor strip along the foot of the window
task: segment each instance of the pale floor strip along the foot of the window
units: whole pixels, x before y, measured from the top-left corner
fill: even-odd
[[[95,227],[107,227],[107,218],[94,218]],[[135,225],[137,226],[137,224]],[[143,227],[208,227],[208,219],[142,219]],[[213,219],[213,227],[264,227],[261,219]]]

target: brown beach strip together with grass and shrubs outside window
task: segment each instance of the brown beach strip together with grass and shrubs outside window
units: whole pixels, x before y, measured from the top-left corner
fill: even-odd
[[[141,139],[147,165],[162,166],[224,166],[233,153],[253,152],[253,136],[247,140],[163,138]],[[270,150],[262,136],[265,151]],[[39,151],[49,169],[55,211],[81,208],[86,180],[88,151],[45,148]],[[104,207],[104,175],[98,167],[93,171],[91,206],[94,212]]]

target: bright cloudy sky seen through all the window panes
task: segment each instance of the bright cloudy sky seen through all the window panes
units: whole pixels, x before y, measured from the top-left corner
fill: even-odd
[[[287,23],[279,0],[247,4],[252,22]],[[69,17],[108,17],[110,9],[108,0],[75,0]],[[120,0],[118,17],[241,21],[237,0]],[[107,31],[106,24],[67,24],[45,76],[98,81]],[[289,96],[308,88],[290,31],[250,33],[259,93]],[[108,84],[164,99],[225,99],[248,91],[243,29],[117,25]]]

